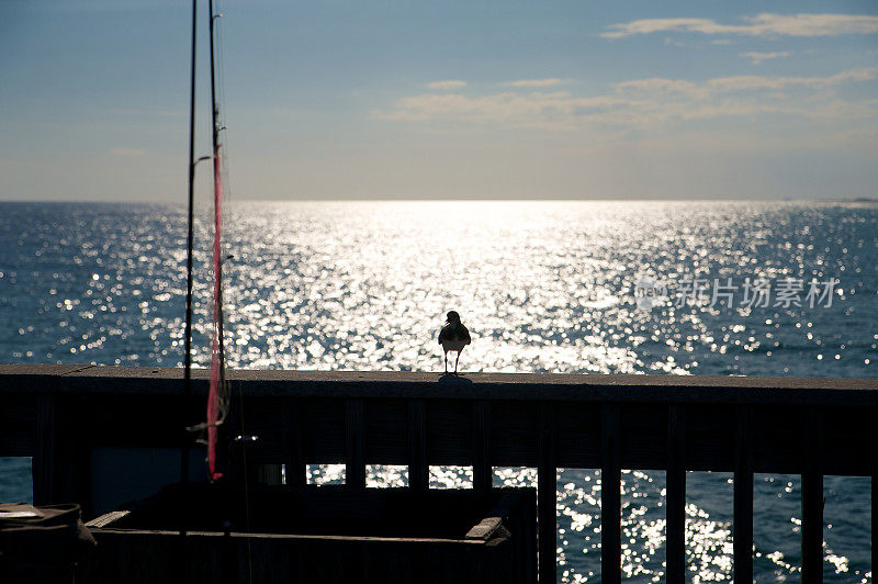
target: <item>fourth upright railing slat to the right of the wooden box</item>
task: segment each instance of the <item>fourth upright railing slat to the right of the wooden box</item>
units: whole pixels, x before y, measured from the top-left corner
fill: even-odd
[[[734,581],[753,582],[753,439],[751,411],[738,408],[734,447]]]

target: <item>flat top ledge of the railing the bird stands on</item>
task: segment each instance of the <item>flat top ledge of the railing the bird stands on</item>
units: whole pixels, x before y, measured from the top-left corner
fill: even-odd
[[[193,370],[206,392],[209,371]],[[649,403],[775,403],[878,406],[878,380],[717,375],[236,370],[247,396],[539,400]],[[183,392],[183,370],[151,367],[0,366],[1,393],[154,394]]]

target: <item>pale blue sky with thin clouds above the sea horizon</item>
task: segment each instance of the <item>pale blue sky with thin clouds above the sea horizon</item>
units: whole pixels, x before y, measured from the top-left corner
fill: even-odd
[[[874,0],[218,4],[235,200],[878,196]],[[190,30],[0,0],[0,200],[184,202]]]

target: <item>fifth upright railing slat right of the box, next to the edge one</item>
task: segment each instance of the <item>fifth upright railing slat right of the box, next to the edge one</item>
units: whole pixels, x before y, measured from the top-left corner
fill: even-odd
[[[823,582],[823,413],[802,416],[802,584]]]

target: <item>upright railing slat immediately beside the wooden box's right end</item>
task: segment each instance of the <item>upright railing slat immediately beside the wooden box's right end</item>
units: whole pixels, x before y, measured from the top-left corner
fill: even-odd
[[[540,405],[540,459],[537,464],[537,544],[540,584],[558,581],[558,468],[554,408]]]

